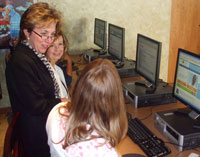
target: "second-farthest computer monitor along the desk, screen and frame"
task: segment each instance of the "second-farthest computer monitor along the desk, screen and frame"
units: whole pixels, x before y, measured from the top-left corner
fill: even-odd
[[[108,53],[114,59],[123,61],[125,49],[125,29],[109,24],[108,26]]]

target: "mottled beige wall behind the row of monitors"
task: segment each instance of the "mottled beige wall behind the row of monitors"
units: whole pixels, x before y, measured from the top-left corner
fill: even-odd
[[[125,56],[130,59],[135,59],[137,33],[161,41],[160,78],[167,80],[171,0],[38,1],[48,2],[63,13],[71,53],[95,48],[95,17],[125,28]]]

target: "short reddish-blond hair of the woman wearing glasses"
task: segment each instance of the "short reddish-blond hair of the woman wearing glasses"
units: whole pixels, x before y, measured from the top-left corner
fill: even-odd
[[[61,29],[61,14],[48,3],[38,2],[31,5],[22,15],[19,40],[25,40],[24,29],[32,32],[36,25],[41,27],[56,24],[56,33]]]

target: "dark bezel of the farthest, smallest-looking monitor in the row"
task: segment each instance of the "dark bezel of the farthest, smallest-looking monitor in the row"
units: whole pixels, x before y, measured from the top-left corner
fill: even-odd
[[[96,38],[95,38],[95,34],[96,34],[96,23],[97,21],[103,22],[104,23],[104,40],[103,40],[103,46],[100,45],[98,42],[96,42]],[[94,20],[94,44],[99,46],[101,49],[106,50],[107,48],[107,21],[104,21],[102,19],[99,18],[95,18]]]

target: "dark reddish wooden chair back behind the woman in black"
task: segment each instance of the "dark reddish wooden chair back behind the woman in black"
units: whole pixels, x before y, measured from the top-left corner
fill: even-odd
[[[19,116],[19,112],[15,113],[7,128],[3,157],[23,157],[23,147],[19,132]]]

